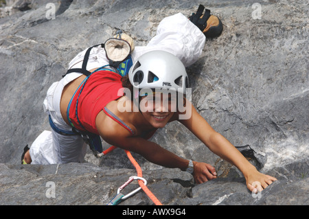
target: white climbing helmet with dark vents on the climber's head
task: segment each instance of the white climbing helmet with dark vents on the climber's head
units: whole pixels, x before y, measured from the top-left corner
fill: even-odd
[[[137,89],[170,89],[185,94],[188,87],[183,62],[167,51],[149,51],[130,68],[128,78]]]

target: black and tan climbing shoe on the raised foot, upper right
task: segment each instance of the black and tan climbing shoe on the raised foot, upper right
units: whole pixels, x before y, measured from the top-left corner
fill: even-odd
[[[198,6],[196,13],[192,13],[189,17],[190,21],[194,23],[208,38],[214,38],[220,36],[223,25],[218,16],[210,14],[209,9],[205,9],[203,5]]]

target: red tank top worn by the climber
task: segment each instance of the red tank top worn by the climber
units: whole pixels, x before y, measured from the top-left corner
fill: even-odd
[[[124,94],[121,78],[122,76],[113,71],[100,70],[91,74],[84,81],[84,84],[81,84],[73,96],[69,107],[69,119],[75,128],[78,130],[86,129],[99,135],[95,126],[95,118],[104,109],[106,104],[117,100]],[[82,92],[80,92],[81,89]],[[76,114],[78,114],[78,117]]]

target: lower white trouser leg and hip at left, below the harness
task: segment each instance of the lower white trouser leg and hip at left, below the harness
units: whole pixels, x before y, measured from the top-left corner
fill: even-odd
[[[54,82],[47,91],[43,106],[45,113],[51,115],[54,124],[61,130],[71,131],[60,113],[60,98],[63,87],[80,74],[70,73],[60,82]],[[30,147],[32,164],[54,164],[82,162],[86,154],[87,144],[78,135],[60,135],[54,130],[43,131]]]

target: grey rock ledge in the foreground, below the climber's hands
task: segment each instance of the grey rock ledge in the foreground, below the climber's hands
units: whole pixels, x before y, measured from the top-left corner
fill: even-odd
[[[90,163],[61,165],[0,164],[1,205],[106,205],[132,169],[110,170]],[[308,205],[309,163],[292,163],[267,172],[278,181],[251,194],[243,177],[228,174],[195,185],[180,170],[147,170],[148,189],[163,205]],[[138,187],[133,181],[123,194]],[[154,205],[141,190],[119,205]]]

